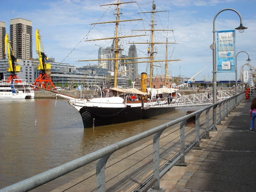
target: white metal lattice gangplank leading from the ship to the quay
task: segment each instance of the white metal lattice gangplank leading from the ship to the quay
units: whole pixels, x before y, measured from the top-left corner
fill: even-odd
[[[226,98],[235,95],[234,90],[225,90],[217,92],[217,102],[222,101]],[[153,107],[156,105],[159,106],[170,106],[173,107],[188,107],[188,106],[203,106],[212,104],[212,94],[209,92],[192,94],[192,95],[183,95],[173,97],[173,100],[170,101],[169,98],[159,98],[158,100],[149,100],[147,103],[144,103],[144,108]]]

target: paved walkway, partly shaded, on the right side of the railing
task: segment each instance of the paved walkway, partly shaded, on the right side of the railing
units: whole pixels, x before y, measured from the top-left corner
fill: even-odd
[[[233,110],[211,139],[200,141],[201,150],[191,150],[187,167],[173,167],[161,178],[166,192],[255,192],[256,132],[250,131],[251,100]]]

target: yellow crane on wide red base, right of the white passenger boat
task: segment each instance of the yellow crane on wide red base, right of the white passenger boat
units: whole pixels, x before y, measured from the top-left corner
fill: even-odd
[[[45,89],[55,89],[55,86],[52,83],[51,77],[47,74],[50,74],[51,64],[47,61],[48,57],[44,53],[44,47],[41,41],[41,36],[39,30],[36,30],[36,53],[38,54],[39,65],[37,65],[37,70],[40,70],[39,76],[36,78],[34,85],[37,87],[42,87]],[[42,51],[41,51],[42,50]]]

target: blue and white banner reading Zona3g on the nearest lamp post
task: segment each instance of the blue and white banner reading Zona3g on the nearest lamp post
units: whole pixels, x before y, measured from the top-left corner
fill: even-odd
[[[235,72],[235,30],[217,32],[217,71]]]

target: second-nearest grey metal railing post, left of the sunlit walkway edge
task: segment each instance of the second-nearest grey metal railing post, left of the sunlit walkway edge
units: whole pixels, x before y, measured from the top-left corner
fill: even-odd
[[[153,179],[154,190],[160,190],[160,172],[159,172],[159,139],[163,131],[156,133],[153,137]]]

